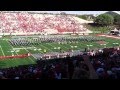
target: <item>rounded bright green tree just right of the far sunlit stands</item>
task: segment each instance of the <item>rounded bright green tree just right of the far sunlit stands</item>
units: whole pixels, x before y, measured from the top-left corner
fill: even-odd
[[[97,23],[98,25],[109,26],[113,24],[114,18],[109,14],[101,14],[96,17],[94,22]]]

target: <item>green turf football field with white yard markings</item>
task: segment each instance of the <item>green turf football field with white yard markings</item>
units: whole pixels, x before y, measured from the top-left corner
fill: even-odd
[[[47,52],[59,52],[59,49],[55,49],[60,47],[62,51],[68,51],[69,49],[73,50],[84,50],[88,48],[87,45],[93,45],[89,47],[90,49],[97,49],[103,48],[104,46],[98,44],[97,42],[87,42],[87,41],[80,41],[78,43],[67,43],[67,44],[58,44],[58,43],[41,43],[39,45],[32,45],[32,46],[15,46],[13,47],[9,42],[9,38],[1,38],[0,39],[0,56],[8,56],[8,55],[19,55],[19,54],[26,54],[30,53],[44,53],[44,50]],[[107,43],[106,47],[113,47],[119,46],[120,40],[118,39],[111,39],[105,38],[105,42]],[[113,43],[118,43],[117,45],[113,45]],[[77,46],[77,47],[75,47]],[[35,50],[36,49],[36,50]],[[11,52],[12,50],[19,50],[18,52]],[[32,56],[29,58],[22,58],[22,59],[4,59],[0,60],[0,68],[9,68],[15,67],[18,65],[27,65],[27,64],[35,64],[36,59]]]

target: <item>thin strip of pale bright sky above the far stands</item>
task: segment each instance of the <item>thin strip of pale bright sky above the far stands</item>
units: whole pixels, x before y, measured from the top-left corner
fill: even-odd
[[[48,13],[60,13],[60,11],[41,11],[41,12],[48,12]],[[62,11],[62,12],[66,12],[68,14],[102,14],[105,13],[107,11]]]

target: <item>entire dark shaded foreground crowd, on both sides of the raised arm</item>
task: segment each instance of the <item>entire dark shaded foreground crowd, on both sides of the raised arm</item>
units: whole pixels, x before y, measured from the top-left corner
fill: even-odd
[[[120,50],[104,48],[83,55],[49,60],[37,64],[0,69],[1,79],[92,79],[91,68],[83,56],[89,56],[98,79],[120,79]]]

